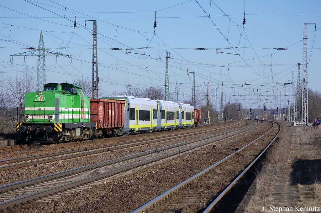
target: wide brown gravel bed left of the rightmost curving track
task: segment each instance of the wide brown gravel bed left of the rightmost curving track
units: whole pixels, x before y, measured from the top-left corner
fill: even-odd
[[[250,124],[249,124],[250,125]],[[91,189],[67,195],[46,204],[32,205],[22,212],[129,212],[178,183],[213,165],[266,132],[271,124],[216,142],[217,149],[207,146],[184,153],[165,163],[142,169]]]

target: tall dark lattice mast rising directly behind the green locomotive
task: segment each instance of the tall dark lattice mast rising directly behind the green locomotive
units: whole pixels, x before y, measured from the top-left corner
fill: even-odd
[[[97,59],[97,22],[96,20],[87,20],[92,21],[92,87],[91,87],[91,98],[97,99],[98,97],[98,59]],[[86,22],[85,21],[85,27]]]

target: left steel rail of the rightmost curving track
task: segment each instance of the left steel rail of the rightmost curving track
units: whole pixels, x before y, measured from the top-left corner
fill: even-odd
[[[272,122],[271,122],[272,123]],[[273,124],[273,123],[272,123]],[[202,172],[188,178],[187,180],[183,181],[182,183],[179,183],[178,185],[172,187],[171,189],[169,189],[168,191],[160,194],[159,196],[155,197],[154,199],[148,201],[147,203],[145,203],[144,205],[142,205],[141,207],[135,209],[134,211],[132,211],[132,213],[142,213],[144,211],[146,211],[147,209],[150,209],[153,205],[155,205],[156,203],[160,202],[161,200],[166,199],[167,197],[169,197],[172,193],[177,192],[179,189],[181,189],[182,187],[184,187],[187,183],[191,183],[192,181],[194,181],[195,179],[205,175],[206,173],[208,173],[210,170],[212,170],[213,168],[215,168],[216,166],[220,165],[221,163],[225,162],[226,160],[228,160],[229,158],[233,157],[234,155],[236,155],[237,153],[243,151],[244,149],[246,149],[248,146],[252,145],[253,143],[255,143],[257,140],[259,140],[260,138],[264,137],[267,133],[269,133],[274,127],[271,127],[271,129],[269,131],[267,131],[266,133],[264,133],[263,135],[261,135],[260,137],[256,138],[254,141],[251,141],[250,143],[248,143],[247,145],[245,145],[244,147],[242,147],[241,149],[233,152],[232,154],[230,154],[229,156],[223,158],[222,160],[216,162],[215,164],[213,164],[212,166],[204,169]]]

